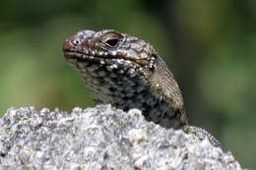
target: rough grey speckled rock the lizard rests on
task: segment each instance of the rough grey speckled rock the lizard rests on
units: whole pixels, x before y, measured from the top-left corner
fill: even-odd
[[[110,105],[10,108],[0,119],[0,169],[241,169],[230,152]]]

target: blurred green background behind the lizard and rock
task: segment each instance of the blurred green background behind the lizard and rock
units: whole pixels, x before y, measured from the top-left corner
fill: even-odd
[[[66,63],[64,39],[114,28],[153,44],[205,128],[243,167],[256,167],[256,1],[2,1],[0,112],[94,106]]]

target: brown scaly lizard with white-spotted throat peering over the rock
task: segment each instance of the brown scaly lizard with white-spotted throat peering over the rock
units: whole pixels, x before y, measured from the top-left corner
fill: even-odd
[[[138,108],[148,121],[221,147],[206,130],[188,125],[180,88],[151,44],[114,29],[80,30],[64,41],[63,52],[96,104]]]

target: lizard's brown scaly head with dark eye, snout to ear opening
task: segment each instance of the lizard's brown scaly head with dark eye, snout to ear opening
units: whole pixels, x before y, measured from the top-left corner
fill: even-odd
[[[113,29],[81,30],[67,38],[63,51],[69,62],[84,61],[107,66],[108,70],[144,74],[154,69],[158,55],[144,40]]]

